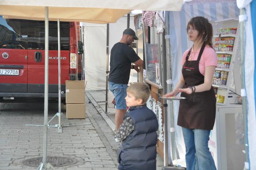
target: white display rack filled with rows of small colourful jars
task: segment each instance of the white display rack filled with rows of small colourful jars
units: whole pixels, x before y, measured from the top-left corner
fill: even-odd
[[[218,20],[212,23],[214,36],[213,46],[218,57],[218,66],[215,69],[212,86],[216,93],[217,104],[227,104],[227,98],[231,89],[230,82],[233,79],[233,69],[239,53],[238,19]]]

